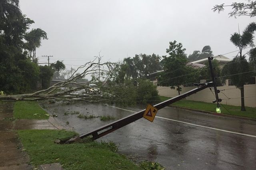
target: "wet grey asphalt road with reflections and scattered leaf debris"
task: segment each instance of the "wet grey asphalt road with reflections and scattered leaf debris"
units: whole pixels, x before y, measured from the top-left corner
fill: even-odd
[[[72,105],[55,103],[47,105],[47,108],[50,113],[58,115],[55,118],[58,123],[80,134],[111,121],[103,122],[99,118],[80,119],[76,114],[64,115],[66,111],[79,111],[84,115],[112,115],[120,119],[132,114],[131,111],[145,109],[144,106],[140,106],[124,108],[130,110],[125,111],[102,104],[90,103]],[[159,110],[157,116],[153,123],[142,118],[98,140],[111,140],[119,145],[120,153],[138,159],[159,162],[166,169],[256,169],[256,121],[172,107]],[[161,117],[181,122],[166,120]],[[69,122],[68,125],[66,124],[67,121]],[[186,123],[190,123],[190,125]],[[220,130],[227,130],[227,132]],[[232,132],[252,136],[233,134]]]

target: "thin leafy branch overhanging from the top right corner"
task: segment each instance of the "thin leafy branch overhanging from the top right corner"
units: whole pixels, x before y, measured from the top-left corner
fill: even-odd
[[[256,0],[247,0],[248,3],[243,2],[233,2],[232,4],[225,5],[215,5],[212,10],[218,11],[219,13],[221,11],[224,11],[225,7],[231,7],[232,11],[228,13],[228,15],[231,16],[250,16],[254,17],[256,16]]]

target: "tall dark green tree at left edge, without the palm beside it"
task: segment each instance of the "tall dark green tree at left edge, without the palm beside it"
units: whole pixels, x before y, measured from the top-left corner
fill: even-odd
[[[35,90],[40,72],[22,51],[26,32],[34,21],[22,14],[18,3],[0,1],[0,90],[6,94]]]

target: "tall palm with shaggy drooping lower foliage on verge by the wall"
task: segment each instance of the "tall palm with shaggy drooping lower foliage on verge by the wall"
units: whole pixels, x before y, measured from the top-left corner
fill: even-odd
[[[239,48],[238,55],[228,64],[225,65],[222,73],[223,75],[233,75],[229,76],[232,83],[239,87],[241,91],[241,111],[246,111],[244,105],[244,83],[248,81],[250,78],[250,74],[238,74],[250,71],[249,63],[245,58],[245,54],[243,55],[243,49],[248,46],[254,46],[253,40],[254,36],[253,33],[256,30],[256,23],[250,23],[246,29],[243,31],[243,34],[235,32],[231,34],[230,41]],[[238,74],[238,75],[234,75]]]

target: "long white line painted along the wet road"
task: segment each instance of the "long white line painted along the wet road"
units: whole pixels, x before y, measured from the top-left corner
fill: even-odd
[[[124,111],[129,111],[129,112],[134,112],[134,113],[136,113],[136,111],[130,111],[130,110],[127,110],[127,109],[122,109],[122,108],[120,108],[120,107],[115,107],[115,106],[110,106],[110,105],[107,105],[107,106],[109,106],[109,107],[114,107],[114,108],[116,108],[116,109],[121,109],[121,110],[124,110]],[[243,136],[250,136],[250,137],[256,138],[256,136],[251,135],[251,134],[233,132],[233,131],[223,130],[223,129],[219,129],[219,128],[213,128],[213,127],[206,127],[206,126],[202,126],[202,125],[196,125],[196,124],[194,124],[194,123],[188,123],[188,122],[183,122],[183,121],[177,121],[177,120],[174,120],[174,119],[168,119],[168,118],[165,118],[165,117],[159,117],[159,116],[156,116],[156,117],[157,117],[157,118],[160,118],[160,119],[165,119],[165,120],[168,120],[168,121],[174,121],[174,122],[178,122],[178,123],[184,123],[184,124],[192,125],[192,126],[196,126],[196,127],[209,128],[209,129],[218,130],[218,131],[222,131],[222,132],[228,132],[228,133],[239,134],[239,135],[243,135]]]

